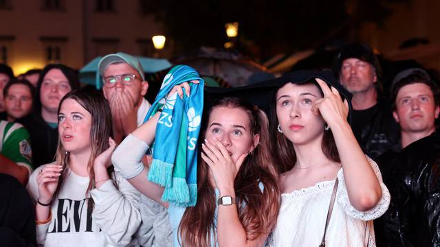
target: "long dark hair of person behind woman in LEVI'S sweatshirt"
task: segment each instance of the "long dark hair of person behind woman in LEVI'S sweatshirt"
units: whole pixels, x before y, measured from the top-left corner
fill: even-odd
[[[47,64],[46,67],[44,67],[43,71],[41,71],[41,74],[39,76],[38,82],[36,82],[36,90],[35,90],[35,97],[34,97],[34,113],[40,113],[41,112],[41,84],[43,83],[44,77],[46,76],[49,71],[52,69],[59,69],[63,73],[63,75],[67,78],[67,81],[70,84],[70,87],[72,88],[72,91],[80,88],[80,80],[78,78],[78,73],[74,71],[74,69],[64,65],[64,64]],[[60,103],[61,104],[61,103]]]

